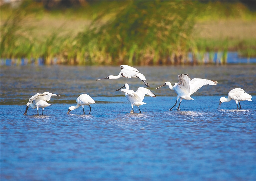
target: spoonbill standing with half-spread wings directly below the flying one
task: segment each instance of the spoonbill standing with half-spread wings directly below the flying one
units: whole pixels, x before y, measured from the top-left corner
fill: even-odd
[[[125,87],[125,89],[122,89],[123,87]],[[145,94],[147,94],[151,97],[156,97],[156,95],[153,92],[151,92],[150,90],[148,90],[144,87],[139,87],[136,90],[136,92],[134,92],[133,90],[130,90],[128,84],[124,84],[123,87],[121,87],[120,89],[122,89],[121,91],[124,92],[125,97],[131,103],[131,106],[132,106],[132,111],[130,113],[134,113],[133,105],[138,106],[138,108],[140,110],[139,106],[146,104],[146,103],[142,102],[145,97]],[[117,89],[116,91],[119,91],[120,89]],[[141,111],[140,111],[140,113],[141,113]]]

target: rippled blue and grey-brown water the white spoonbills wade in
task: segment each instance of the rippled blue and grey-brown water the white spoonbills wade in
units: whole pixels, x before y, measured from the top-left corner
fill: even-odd
[[[255,180],[256,67],[136,67],[156,98],[145,96],[142,113],[130,114],[123,92],[145,87],[139,79],[100,80],[117,75],[117,67],[1,67],[1,180]],[[177,75],[218,81],[169,111],[176,94],[166,81]],[[233,88],[243,88],[251,102],[223,103]],[[52,92],[44,115],[29,108],[37,92]],[[82,93],[96,102],[66,115]],[[42,109],[39,109],[42,113]]]

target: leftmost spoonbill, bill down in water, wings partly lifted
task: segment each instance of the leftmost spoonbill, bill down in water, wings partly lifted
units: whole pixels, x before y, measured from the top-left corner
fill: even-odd
[[[42,115],[44,115],[44,108],[47,106],[51,106],[51,104],[49,104],[46,101],[49,101],[52,96],[60,96],[60,95],[52,94],[49,92],[44,92],[42,94],[37,93],[37,94],[33,95],[31,98],[29,98],[29,102],[27,103],[26,111],[23,115],[27,115],[27,111],[28,111],[29,107],[31,107],[32,109],[36,108],[37,115],[39,115],[38,109],[42,108],[42,110],[43,110]]]

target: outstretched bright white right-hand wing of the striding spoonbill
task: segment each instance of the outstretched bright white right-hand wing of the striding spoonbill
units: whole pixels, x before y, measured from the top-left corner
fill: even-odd
[[[189,86],[190,86],[189,96],[191,94],[193,94],[194,92],[196,92],[201,87],[203,87],[204,85],[217,85],[217,81],[212,81],[212,80],[208,80],[208,79],[197,79],[197,78],[194,78],[194,79],[190,80],[190,82],[189,82]]]

